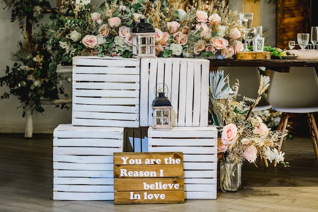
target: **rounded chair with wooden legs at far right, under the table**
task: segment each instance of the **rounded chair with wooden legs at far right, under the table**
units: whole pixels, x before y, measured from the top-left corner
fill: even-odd
[[[289,113],[306,113],[311,132],[312,144],[318,159],[318,130],[313,116],[318,112],[318,77],[313,67],[291,67],[289,73],[273,72],[268,90],[268,101],[272,109],[281,111],[278,125],[284,135]],[[281,149],[283,136],[280,138],[278,152]],[[276,162],[273,163],[276,166]]]

